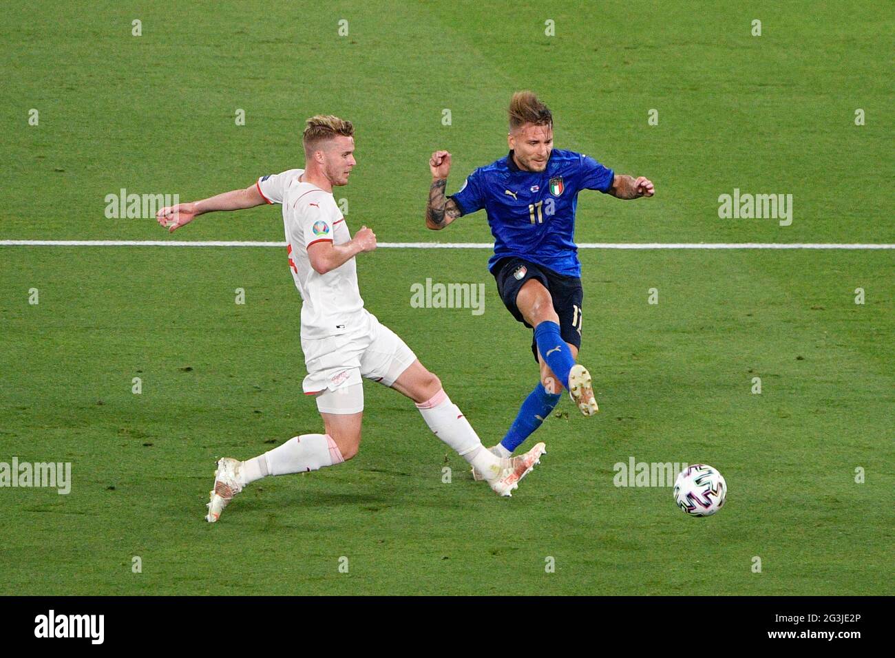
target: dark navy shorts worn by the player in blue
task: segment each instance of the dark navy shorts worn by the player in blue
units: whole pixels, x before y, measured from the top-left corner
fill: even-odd
[[[507,311],[529,329],[532,329],[532,325],[525,321],[522,312],[516,306],[516,295],[529,279],[540,281],[550,293],[553,310],[559,316],[559,335],[567,343],[581,349],[581,303],[584,300],[584,290],[580,278],[567,277],[550,268],[516,257],[498,261],[491,274],[497,281],[498,293]],[[532,335],[532,353],[534,360],[538,361],[538,344],[534,335]]]

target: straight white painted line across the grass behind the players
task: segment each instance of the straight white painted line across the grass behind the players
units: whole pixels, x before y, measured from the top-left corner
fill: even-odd
[[[0,247],[281,247],[237,240],[0,240]],[[382,249],[493,249],[490,243],[379,243]],[[583,243],[578,249],[895,249],[873,243]]]

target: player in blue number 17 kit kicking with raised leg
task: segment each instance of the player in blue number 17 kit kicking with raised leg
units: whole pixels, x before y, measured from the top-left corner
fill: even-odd
[[[460,191],[447,197],[450,153],[432,153],[426,207],[426,226],[436,231],[485,209],[494,235],[488,269],[507,310],[534,330],[532,352],[541,380],[507,435],[491,448],[500,457],[511,455],[541,426],[557,405],[561,387],[585,416],[598,410],[591,375],[575,363],[583,299],[574,240],[578,192],[599,190],[618,199],[654,192],[643,176],[616,174],[581,153],[554,149],[550,109],[531,91],[518,91],[510,101],[507,143],[505,158],[473,171]]]

